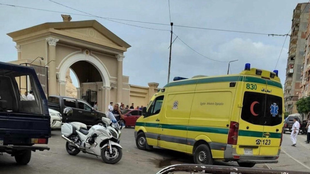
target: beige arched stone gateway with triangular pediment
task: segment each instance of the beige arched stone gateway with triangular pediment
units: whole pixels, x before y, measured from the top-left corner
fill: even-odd
[[[97,21],[44,23],[8,35],[18,52],[13,63],[47,67],[47,95],[66,95],[70,68],[78,78],[78,98],[95,92],[101,111],[106,111],[110,101],[129,104],[129,77],[123,76],[123,59],[130,45]]]

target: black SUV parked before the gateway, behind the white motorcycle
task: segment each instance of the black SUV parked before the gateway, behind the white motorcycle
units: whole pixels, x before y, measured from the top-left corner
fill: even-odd
[[[62,113],[66,107],[72,108],[72,116],[67,117]],[[95,111],[86,101],[67,96],[50,95],[48,108],[62,113],[62,123],[80,122],[87,126],[103,125],[101,118],[106,117],[106,114]]]

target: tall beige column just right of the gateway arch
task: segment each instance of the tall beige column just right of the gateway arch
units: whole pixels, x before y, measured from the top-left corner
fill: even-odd
[[[123,59],[125,58],[124,55],[116,55],[117,57],[117,95],[116,95],[116,102],[121,103],[123,102]]]

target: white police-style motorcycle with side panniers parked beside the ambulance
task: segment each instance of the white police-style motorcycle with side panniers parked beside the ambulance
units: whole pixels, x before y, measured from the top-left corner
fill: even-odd
[[[72,112],[71,108],[65,108],[63,111],[67,116],[71,116]],[[109,118],[102,117],[102,121],[104,126],[94,125],[89,130],[85,124],[79,122],[63,124],[62,138],[67,141],[67,152],[70,155],[77,155],[82,151],[97,157],[101,156],[108,164],[117,163],[123,155],[123,148],[119,144],[121,127],[116,120],[111,122]]]

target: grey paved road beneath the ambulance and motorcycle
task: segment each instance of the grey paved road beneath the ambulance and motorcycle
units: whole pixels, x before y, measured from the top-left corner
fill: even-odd
[[[279,163],[258,164],[255,167],[310,171],[310,144],[306,144],[305,140],[305,135],[299,135],[297,146],[292,147],[290,135],[285,134]],[[0,156],[0,174],[155,174],[168,165],[193,163],[191,156],[171,150],[139,150],[134,141],[133,128],[122,130],[121,145],[124,148],[123,158],[119,163],[110,165],[88,154],[70,156],[65,150],[60,130],[53,130],[48,144],[50,150],[32,153],[31,161],[26,166],[16,165],[14,157],[8,154]],[[216,165],[238,166],[235,162],[221,161]]]

